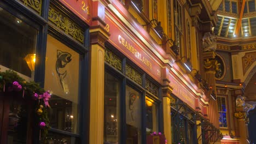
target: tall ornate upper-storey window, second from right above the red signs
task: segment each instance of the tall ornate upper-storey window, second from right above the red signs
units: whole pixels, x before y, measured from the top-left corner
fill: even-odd
[[[183,37],[183,22],[182,22],[182,6],[178,1],[174,3],[174,25],[175,25],[175,41],[176,45],[179,46],[179,53],[182,55],[182,37]]]

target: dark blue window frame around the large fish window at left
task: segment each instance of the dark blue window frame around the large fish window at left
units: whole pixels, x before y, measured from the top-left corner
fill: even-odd
[[[49,5],[53,4],[55,7],[60,8],[68,15],[72,17],[72,20],[79,25],[84,31],[84,43],[79,44],[77,41],[73,40],[72,37],[69,37],[63,31],[60,31],[59,28],[54,27],[48,21],[48,9]],[[89,131],[86,130],[89,128],[89,26],[81,20],[77,15],[72,13],[59,1],[42,1],[42,11],[41,15],[34,13],[30,8],[27,8],[20,1],[15,0],[4,0],[0,2],[0,7],[7,10],[9,13],[18,17],[20,20],[26,22],[28,25],[33,26],[38,30],[37,33],[37,44],[36,44],[36,56],[37,61],[34,70],[34,81],[38,82],[41,87],[44,87],[44,70],[45,70],[45,55],[46,55],[46,39],[47,34],[50,34],[55,39],[59,40],[62,44],[65,44],[72,50],[76,51],[80,55],[80,64],[79,64],[79,89],[78,89],[78,98],[79,98],[79,122],[83,122],[79,127],[79,134],[68,133],[67,131],[62,131],[58,129],[50,129],[59,133],[60,135],[69,135],[74,137],[79,137],[81,143],[88,143],[89,141]],[[83,105],[82,105],[83,104]],[[32,143],[40,143],[39,137],[39,128],[33,129],[33,138]]]

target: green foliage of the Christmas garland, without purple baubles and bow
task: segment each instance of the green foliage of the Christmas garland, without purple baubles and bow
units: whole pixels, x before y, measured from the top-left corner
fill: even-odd
[[[0,92],[8,92],[9,87],[16,81],[22,86],[21,91],[16,92],[20,97],[24,99],[34,100],[34,118],[36,127],[40,128],[40,140],[45,141],[45,137],[48,135],[49,130],[49,118],[48,118],[48,107],[45,106],[43,99],[34,97],[34,93],[43,94],[45,90],[39,86],[36,82],[27,82],[20,77],[13,70],[0,71]],[[38,112],[39,109],[42,111]],[[45,127],[40,127],[40,122],[45,123]]]

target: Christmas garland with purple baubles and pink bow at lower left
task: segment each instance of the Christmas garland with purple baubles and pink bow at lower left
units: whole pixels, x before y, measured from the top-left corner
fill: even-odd
[[[50,93],[36,82],[25,81],[13,70],[0,71],[0,92],[14,92],[17,97],[35,101],[34,123],[36,127],[40,128],[40,139],[44,141],[50,128],[48,118]]]

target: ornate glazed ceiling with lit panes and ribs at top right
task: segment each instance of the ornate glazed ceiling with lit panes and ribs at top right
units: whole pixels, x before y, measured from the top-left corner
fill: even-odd
[[[256,36],[256,0],[224,0],[217,10],[214,33],[225,38]],[[243,9],[243,10],[242,10]]]

